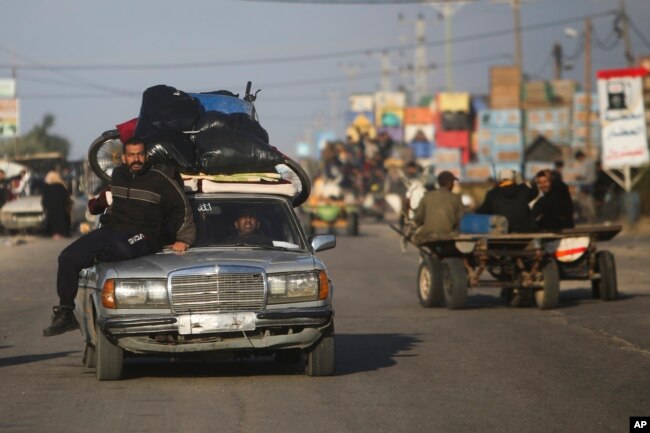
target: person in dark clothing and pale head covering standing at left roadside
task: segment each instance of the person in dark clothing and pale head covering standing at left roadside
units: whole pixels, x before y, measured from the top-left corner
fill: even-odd
[[[70,212],[72,201],[61,175],[50,171],[45,176],[41,199],[45,213],[45,231],[53,239],[70,236]]]

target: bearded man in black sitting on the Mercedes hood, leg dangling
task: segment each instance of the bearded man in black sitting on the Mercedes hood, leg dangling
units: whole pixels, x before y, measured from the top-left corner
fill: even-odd
[[[79,324],[74,317],[79,272],[94,261],[119,261],[153,254],[165,243],[183,252],[194,242],[195,227],[187,197],[178,183],[147,164],[144,143],[132,138],[123,146],[122,165],[113,170],[110,214],[101,228],[80,237],[59,255],[57,293],[50,337]]]

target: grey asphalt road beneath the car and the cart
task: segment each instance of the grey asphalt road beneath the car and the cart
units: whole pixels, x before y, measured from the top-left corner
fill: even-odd
[[[97,382],[77,332],[41,336],[69,241],[0,246],[0,431],[623,432],[650,415],[648,234],[602,245],[617,301],[574,282],[551,311],[494,290],[448,311],[419,306],[413,248],[385,225],[361,230],[322,254],[337,329],[337,375],[324,378],[268,359],[148,360]]]

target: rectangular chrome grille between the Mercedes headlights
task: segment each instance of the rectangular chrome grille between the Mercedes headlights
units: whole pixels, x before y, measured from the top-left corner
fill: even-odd
[[[259,311],[264,306],[262,273],[175,275],[171,279],[176,313]]]

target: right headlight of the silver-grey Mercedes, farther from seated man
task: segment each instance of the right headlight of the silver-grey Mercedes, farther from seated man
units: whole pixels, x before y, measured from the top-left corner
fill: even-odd
[[[318,271],[269,274],[269,303],[315,301],[319,295],[320,280]]]

